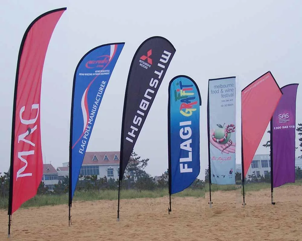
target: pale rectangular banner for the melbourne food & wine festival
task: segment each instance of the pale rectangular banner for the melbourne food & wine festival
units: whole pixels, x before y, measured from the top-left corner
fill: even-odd
[[[235,184],[236,77],[209,80],[207,124],[210,180]]]

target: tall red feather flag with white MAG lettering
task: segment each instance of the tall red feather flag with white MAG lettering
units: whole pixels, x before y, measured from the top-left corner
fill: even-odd
[[[8,215],[36,195],[42,179],[42,71],[50,37],[65,10],[40,15],[29,25],[21,42],[14,90]]]

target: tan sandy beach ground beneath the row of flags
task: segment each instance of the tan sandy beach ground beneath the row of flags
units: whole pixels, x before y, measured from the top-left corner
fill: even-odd
[[[75,202],[72,226],[67,205],[21,208],[13,214],[10,240],[302,240],[302,186],[246,194],[212,193],[206,198],[175,197],[168,214],[169,197],[122,199],[120,222],[117,201]],[[8,215],[0,210],[0,240],[7,240]]]

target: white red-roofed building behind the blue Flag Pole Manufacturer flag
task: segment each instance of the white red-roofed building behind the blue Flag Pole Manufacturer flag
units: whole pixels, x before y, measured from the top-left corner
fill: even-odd
[[[61,173],[63,173],[63,171],[68,169],[68,166],[69,162],[64,162],[63,167],[59,167],[58,169]],[[98,175],[98,179],[104,176],[106,176],[108,179],[118,179],[119,171],[119,151],[86,151],[81,166],[80,175]],[[66,173],[68,174],[68,171]]]

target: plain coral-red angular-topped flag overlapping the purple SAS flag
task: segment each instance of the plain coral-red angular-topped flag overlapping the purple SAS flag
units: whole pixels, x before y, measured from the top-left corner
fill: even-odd
[[[281,96],[282,91],[270,71],[241,91],[243,180]]]

